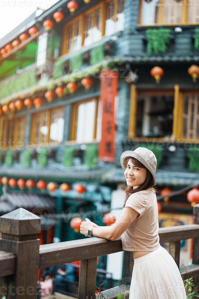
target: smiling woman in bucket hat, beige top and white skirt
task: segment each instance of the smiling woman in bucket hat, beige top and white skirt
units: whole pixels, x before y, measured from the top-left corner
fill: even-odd
[[[133,252],[134,267],[129,299],[185,299],[180,271],[172,256],[159,244],[158,207],[155,171],[157,160],[152,151],[138,147],[120,157],[127,181],[126,199],[119,219],[111,226],[98,226],[86,218],[80,232],[116,240],[122,249]]]

